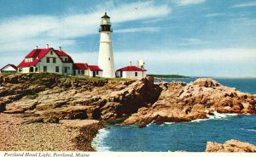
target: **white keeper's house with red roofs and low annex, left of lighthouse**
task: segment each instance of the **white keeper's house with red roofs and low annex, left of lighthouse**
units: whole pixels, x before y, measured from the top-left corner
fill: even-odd
[[[38,48],[28,53],[18,65],[19,73],[54,72],[61,75],[102,76],[102,70],[97,65],[73,63],[73,59],[61,47]]]

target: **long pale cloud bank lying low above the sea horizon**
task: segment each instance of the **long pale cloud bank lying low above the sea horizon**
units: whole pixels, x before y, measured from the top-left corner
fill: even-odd
[[[98,53],[71,55],[77,62],[97,64]],[[137,59],[144,59],[148,74],[178,72],[186,76],[256,76],[256,70],[248,68],[256,66],[255,48],[113,51],[113,56],[116,70],[127,66],[130,61],[136,65]]]

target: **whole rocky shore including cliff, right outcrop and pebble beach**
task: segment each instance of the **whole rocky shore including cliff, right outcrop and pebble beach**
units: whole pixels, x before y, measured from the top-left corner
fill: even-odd
[[[95,151],[101,121],[149,123],[207,119],[215,112],[256,114],[256,98],[212,79],[155,83],[49,73],[0,76],[1,150]],[[52,139],[54,138],[54,139]]]

